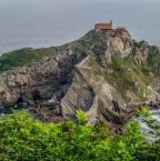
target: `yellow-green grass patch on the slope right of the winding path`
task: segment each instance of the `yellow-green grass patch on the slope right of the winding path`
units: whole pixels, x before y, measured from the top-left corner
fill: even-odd
[[[149,94],[147,87],[151,81],[150,66],[138,67],[128,58],[122,59],[118,56],[112,57],[112,62],[107,68],[102,68],[96,59],[91,60],[90,66],[93,74],[103,77],[121,93],[126,102],[131,101],[128,91],[134,94],[137,102],[147,99],[143,92]]]

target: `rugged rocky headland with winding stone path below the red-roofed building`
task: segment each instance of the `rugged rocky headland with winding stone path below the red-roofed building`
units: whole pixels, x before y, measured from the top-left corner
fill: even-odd
[[[54,122],[73,119],[81,108],[91,123],[102,118],[121,128],[128,104],[159,102],[159,48],[128,31],[90,31],[54,54],[42,52],[38,61],[1,72],[0,107],[26,102],[36,117]]]

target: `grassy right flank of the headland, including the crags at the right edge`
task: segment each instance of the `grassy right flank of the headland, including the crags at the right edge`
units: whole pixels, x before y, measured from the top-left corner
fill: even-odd
[[[102,60],[99,59],[101,56],[96,56],[96,59],[91,59],[86,66],[92,69],[94,76],[103,77],[113,85],[127,103],[133,100],[144,102],[151,93],[148,87],[160,76],[160,51],[158,47],[146,43],[134,42],[132,50],[126,57],[110,53],[110,62],[102,62],[106,56],[101,52]]]

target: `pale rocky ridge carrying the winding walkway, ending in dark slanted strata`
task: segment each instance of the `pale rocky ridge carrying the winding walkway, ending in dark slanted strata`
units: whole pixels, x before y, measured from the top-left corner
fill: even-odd
[[[92,68],[90,68],[92,59],[96,58],[88,56],[77,66],[81,76],[96,93],[92,107],[87,112],[89,122],[94,123],[97,120],[104,119],[108,122],[108,127],[114,127],[114,129],[117,129],[116,127],[118,124],[120,124],[120,127],[123,124],[124,119],[122,119],[122,113],[126,112],[127,114],[124,110],[126,103],[119,92],[111,87],[102,76],[92,72]],[[89,76],[88,73],[91,74]]]

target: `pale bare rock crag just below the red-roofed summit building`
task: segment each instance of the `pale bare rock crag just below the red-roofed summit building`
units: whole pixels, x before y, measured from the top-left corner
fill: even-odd
[[[111,30],[107,32],[106,39],[92,47],[92,51],[101,64],[108,66],[114,54],[122,58],[129,56],[132,50],[132,43],[133,41],[128,31]]]

